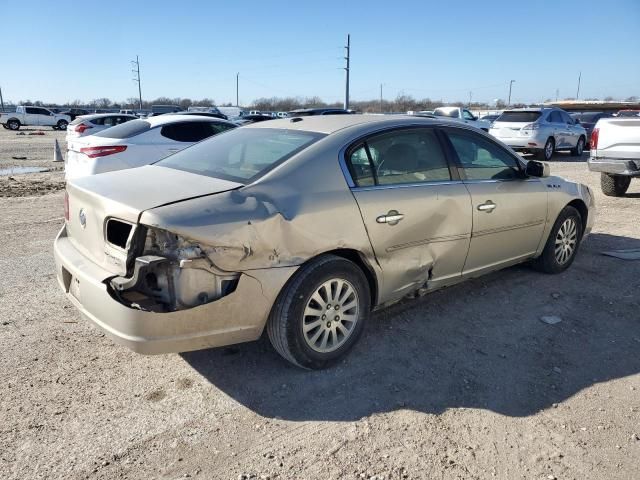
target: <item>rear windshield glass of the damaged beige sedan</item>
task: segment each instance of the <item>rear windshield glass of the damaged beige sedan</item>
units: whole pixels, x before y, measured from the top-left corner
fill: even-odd
[[[186,148],[156,165],[250,183],[325,135],[275,128],[238,128]]]

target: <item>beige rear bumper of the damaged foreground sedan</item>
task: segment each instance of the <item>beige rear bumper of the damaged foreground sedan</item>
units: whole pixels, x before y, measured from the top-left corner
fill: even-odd
[[[297,267],[252,270],[236,290],[211,303],[168,313],[130,308],[115,300],[106,280],[113,274],[82,255],[63,227],[54,243],[56,275],[83,317],[138,353],[185,352],[256,340],[271,306]]]

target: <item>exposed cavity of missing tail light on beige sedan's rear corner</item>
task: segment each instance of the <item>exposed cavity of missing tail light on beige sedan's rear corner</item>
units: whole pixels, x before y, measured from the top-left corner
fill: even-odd
[[[109,293],[139,310],[174,312],[214,302],[234,292],[239,273],[219,269],[211,248],[166,230],[138,227],[127,275],[108,281]]]

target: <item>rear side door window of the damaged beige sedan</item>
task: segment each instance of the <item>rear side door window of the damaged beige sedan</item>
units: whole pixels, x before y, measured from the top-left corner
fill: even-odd
[[[375,135],[353,150],[348,162],[357,186],[451,180],[447,159],[430,128]]]

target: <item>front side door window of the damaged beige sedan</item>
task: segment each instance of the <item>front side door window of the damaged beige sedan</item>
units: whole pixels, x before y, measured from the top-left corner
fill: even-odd
[[[453,131],[447,135],[468,180],[521,178],[518,161],[480,135]]]

